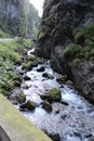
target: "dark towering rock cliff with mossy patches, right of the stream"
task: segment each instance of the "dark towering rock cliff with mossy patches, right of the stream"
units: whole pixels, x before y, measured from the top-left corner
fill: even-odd
[[[45,0],[36,54],[94,102],[94,1]]]

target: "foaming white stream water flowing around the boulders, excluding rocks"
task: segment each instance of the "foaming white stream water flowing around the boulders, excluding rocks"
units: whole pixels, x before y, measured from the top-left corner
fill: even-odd
[[[32,51],[29,51],[28,55]],[[44,72],[52,74],[54,79],[42,77],[44,72],[38,72],[38,68],[41,68],[41,66],[45,68]],[[59,74],[51,68],[50,61],[45,61],[42,65],[39,64],[38,67],[33,67],[26,74],[31,80],[23,81],[22,88],[24,84],[28,86],[28,89],[23,89],[26,98],[37,104],[35,111],[23,112],[29,120],[49,134],[58,133],[61,141],[94,140],[94,106],[82,98],[75,87],[69,85],[69,81],[64,84],[56,81]],[[48,113],[42,108],[40,94],[55,87],[62,90],[62,101],[53,102],[53,111]]]

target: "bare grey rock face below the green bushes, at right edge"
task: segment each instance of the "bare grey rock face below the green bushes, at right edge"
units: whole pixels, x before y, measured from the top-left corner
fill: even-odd
[[[84,61],[81,69],[71,67],[71,72],[76,87],[94,104],[94,61]]]

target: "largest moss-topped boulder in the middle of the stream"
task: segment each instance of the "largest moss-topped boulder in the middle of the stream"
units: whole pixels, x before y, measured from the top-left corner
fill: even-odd
[[[48,93],[40,95],[42,100],[48,100],[49,102],[52,101],[61,101],[62,92],[59,88],[53,88]]]

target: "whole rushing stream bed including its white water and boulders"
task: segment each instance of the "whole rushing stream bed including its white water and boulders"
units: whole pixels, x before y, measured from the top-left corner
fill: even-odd
[[[10,101],[53,141],[93,141],[94,105],[80,95],[66,75],[51,68],[50,60],[35,56],[33,51],[16,66],[22,81]]]

